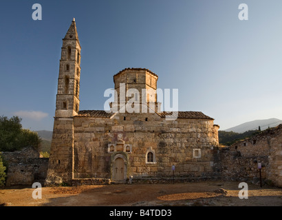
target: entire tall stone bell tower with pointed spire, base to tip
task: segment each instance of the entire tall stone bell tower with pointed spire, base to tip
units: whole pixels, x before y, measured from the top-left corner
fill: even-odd
[[[81,50],[75,20],[65,34],[61,50],[46,186],[72,184],[74,178],[74,116],[79,111]]]

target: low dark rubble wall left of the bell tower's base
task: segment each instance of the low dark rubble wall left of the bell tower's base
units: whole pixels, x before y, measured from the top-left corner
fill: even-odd
[[[47,176],[48,158],[39,158],[39,152],[32,147],[22,151],[3,152],[8,164],[6,186],[44,184]]]

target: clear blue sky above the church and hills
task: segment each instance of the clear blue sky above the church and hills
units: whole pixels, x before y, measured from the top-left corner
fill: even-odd
[[[43,20],[32,20],[41,3]],[[238,19],[248,4],[248,21]],[[0,115],[52,131],[62,39],[76,18],[82,46],[80,110],[103,109],[126,67],[179,89],[180,111],[202,111],[228,129],[282,120],[282,1],[100,0],[0,3]]]

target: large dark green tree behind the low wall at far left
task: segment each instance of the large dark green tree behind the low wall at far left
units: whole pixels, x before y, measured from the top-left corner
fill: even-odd
[[[21,118],[0,116],[0,151],[17,151],[25,146],[39,148],[40,143],[36,132],[22,129]]]

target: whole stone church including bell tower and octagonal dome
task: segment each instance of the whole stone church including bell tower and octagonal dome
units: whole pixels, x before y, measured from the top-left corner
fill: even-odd
[[[63,39],[56,112],[45,184],[109,183],[129,179],[203,178],[215,174],[219,126],[200,111],[178,111],[176,120],[157,109],[158,75],[149,69],[123,69],[113,76],[116,91],[147,89],[147,112],[79,109],[80,42],[76,22]],[[118,92],[118,100],[121,99]],[[118,102],[118,100],[116,100]],[[128,99],[124,100],[128,102]],[[113,103],[111,103],[111,106]]]

